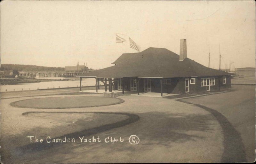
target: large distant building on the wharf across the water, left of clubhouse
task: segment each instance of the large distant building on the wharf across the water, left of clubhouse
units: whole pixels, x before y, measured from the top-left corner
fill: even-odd
[[[75,77],[76,75],[81,75],[84,73],[90,72],[87,63],[83,66],[80,66],[79,63],[77,62],[76,66],[65,66],[65,75],[66,77]]]

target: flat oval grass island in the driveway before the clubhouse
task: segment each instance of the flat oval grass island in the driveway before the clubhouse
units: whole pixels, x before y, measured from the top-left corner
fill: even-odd
[[[65,108],[84,108],[107,106],[123,103],[120,98],[106,97],[50,97],[32,98],[10,103],[10,105],[20,108],[39,108],[39,109],[65,109]]]

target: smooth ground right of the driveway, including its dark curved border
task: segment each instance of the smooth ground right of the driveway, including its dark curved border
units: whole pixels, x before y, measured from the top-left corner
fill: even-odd
[[[234,85],[231,92],[180,100],[219,121],[224,136],[221,162],[255,161],[255,86]]]

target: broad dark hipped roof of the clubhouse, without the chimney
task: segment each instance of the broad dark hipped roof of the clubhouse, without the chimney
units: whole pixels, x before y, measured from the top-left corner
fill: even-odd
[[[189,58],[180,61],[178,54],[165,48],[148,48],[138,53],[124,53],[110,66],[80,75],[80,77],[192,77],[230,75],[205,67]]]

